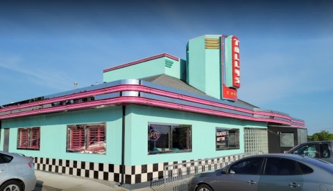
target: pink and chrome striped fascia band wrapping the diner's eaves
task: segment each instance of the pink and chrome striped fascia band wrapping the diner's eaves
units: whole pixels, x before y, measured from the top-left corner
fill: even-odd
[[[0,120],[80,109],[116,107],[123,104],[139,104],[212,116],[305,127],[303,120],[291,118],[286,113],[246,107],[210,96],[199,96],[186,91],[168,89],[162,85],[142,80],[118,80],[58,95],[44,96],[43,99],[35,102],[12,104],[0,109]]]

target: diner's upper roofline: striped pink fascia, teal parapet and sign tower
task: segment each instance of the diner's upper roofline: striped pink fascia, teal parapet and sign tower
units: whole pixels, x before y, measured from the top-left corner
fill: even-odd
[[[304,120],[286,113],[238,104],[240,86],[239,39],[232,35],[203,35],[190,39],[187,58],[161,53],[103,70],[105,83],[30,101],[8,104],[0,109],[0,120],[78,109],[140,104],[223,116],[241,120],[274,122],[305,127]],[[205,96],[140,80],[168,75],[186,82]]]

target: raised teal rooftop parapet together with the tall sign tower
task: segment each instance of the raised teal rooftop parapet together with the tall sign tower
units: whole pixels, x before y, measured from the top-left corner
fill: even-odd
[[[214,98],[237,100],[241,87],[239,39],[233,35],[203,35],[190,39],[186,49],[186,60],[162,53],[105,69],[103,81],[166,74]]]

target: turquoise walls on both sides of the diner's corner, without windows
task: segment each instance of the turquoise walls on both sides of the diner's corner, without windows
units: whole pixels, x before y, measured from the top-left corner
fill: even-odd
[[[106,122],[106,154],[66,152],[67,125],[90,122]],[[192,152],[149,155],[148,122],[191,125]],[[40,127],[40,150],[17,149],[17,128],[19,127]],[[240,149],[216,151],[216,127],[238,128]],[[266,128],[266,123],[133,104],[127,105],[125,165],[186,161],[242,154],[244,153],[244,127]],[[5,128],[10,129],[9,152],[35,157],[121,164],[121,107],[68,111],[3,120],[1,137],[3,137],[3,129]],[[0,147],[3,148],[3,140],[1,140]]]

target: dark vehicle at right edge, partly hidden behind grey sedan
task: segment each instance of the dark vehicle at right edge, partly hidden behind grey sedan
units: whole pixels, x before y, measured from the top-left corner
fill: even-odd
[[[286,153],[320,158],[323,161],[333,163],[333,141],[322,140],[301,143],[300,145],[291,148]]]

